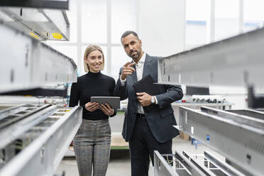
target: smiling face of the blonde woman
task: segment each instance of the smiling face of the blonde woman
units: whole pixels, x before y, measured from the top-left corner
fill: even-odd
[[[104,62],[103,55],[99,50],[92,51],[84,60],[89,65],[90,72],[99,72]]]

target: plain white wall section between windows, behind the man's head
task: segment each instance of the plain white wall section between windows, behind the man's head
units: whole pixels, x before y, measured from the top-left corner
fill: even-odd
[[[168,56],[185,48],[185,0],[138,1],[139,37],[149,55]]]

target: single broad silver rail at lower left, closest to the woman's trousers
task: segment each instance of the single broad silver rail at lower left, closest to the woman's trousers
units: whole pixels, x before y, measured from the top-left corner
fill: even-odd
[[[82,122],[82,107],[49,108],[54,107],[53,113],[45,111],[43,118],[38,116],[43,121],[23,131],[16,141],[1,148],[0,175],[53,176]]]

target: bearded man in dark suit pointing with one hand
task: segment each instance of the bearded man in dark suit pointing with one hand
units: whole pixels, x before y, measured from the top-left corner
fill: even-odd
[[[119,72],[114,94],[121,100],[128,98],[128,107],[123,121],[123,138],[129,142],[131,153],[131,175],[148,175],[149,156],[153,151],[172,153],[172,138],[179,132],[173,115],[172,102],[182,99],[182,88],[174,85],[158,85],[159,94],[135,92],[133,84],[150,75],[158,81],[158,60],[143,52],[138,34],[126,31],[121,43],[132,62],[127,62]],[[153,85],[150,85],[153,86]],[[152,106],[149,109],[147,107]]]

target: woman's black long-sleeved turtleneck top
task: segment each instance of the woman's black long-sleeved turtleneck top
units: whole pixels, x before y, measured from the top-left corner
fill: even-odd
[[[76,83],[72,83],[69,106],[74,107],[79,102],[79,106],[82,106],[82,119],[94,121],[109,119],[109,116],[106,116],[101,109],[90,112],[84,105],[91,101],[91,97],[114,97],[115,84],[114,78],[101,72],[87,72],[86,75],[78,77]],[[116,109],[112,116],[115,115]]]

